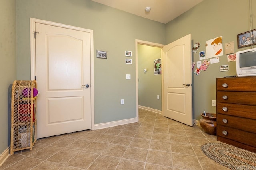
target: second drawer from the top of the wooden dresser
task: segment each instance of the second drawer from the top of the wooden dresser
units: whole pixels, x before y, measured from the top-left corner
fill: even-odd
[[[217,91],[217,102],[256,105],[256,92]]]

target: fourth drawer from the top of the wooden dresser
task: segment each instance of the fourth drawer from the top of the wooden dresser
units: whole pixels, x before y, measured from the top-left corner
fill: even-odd
[[[253,119],[217,114],[218,125],[256,133],[256,120]]]

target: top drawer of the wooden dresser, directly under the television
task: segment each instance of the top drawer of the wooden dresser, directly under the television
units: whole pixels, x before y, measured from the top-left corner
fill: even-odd
[[[234,77],[234,78],[217,78],[217,90],[221,91],[241,91],[256,92],[256,76],[251,77]]]

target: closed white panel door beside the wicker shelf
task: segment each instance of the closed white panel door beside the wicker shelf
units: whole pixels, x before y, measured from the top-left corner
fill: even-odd
[[[91,129],[90,33],[35,24],[37,137]]]

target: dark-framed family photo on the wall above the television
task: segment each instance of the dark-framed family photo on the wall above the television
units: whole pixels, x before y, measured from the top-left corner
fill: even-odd
[[[237,35],[237,48],[248,47],[254,45],[255,42],[256,29],[252,31],[247,31],[245,33],[240,33]]]

